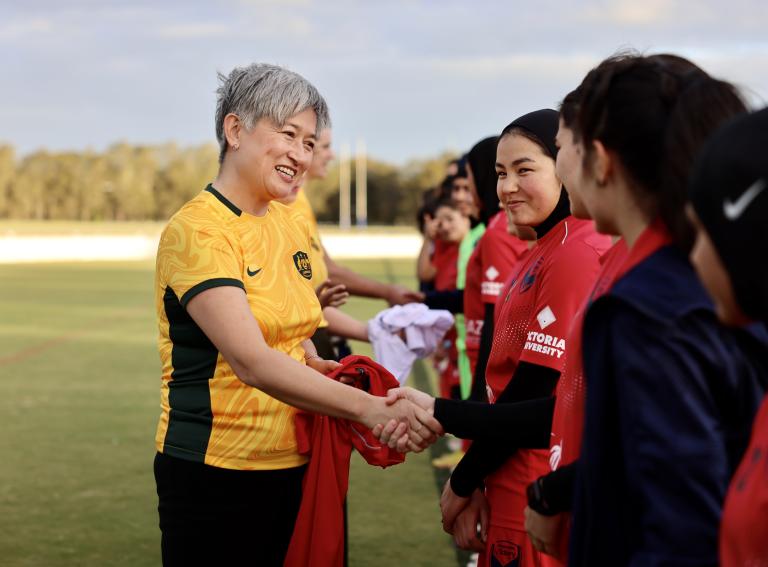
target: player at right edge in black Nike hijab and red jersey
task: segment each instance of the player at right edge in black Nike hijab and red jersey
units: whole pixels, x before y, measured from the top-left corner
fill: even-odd
[[[723,127],[697,160],[691,261],[727,325],[768,321],[768,109]],[[761,359],[768,363],[768,355]],[[720,527],[723,567],[768,565],[768,398],[733,477]]]

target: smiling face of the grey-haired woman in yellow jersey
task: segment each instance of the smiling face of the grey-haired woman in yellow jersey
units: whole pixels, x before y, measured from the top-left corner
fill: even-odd
[[[311,108],[282,126],[262,118],[239,130],[239,148],[228,152],[240,177],[265,200],[288,197],[312,163],[317,118]]]

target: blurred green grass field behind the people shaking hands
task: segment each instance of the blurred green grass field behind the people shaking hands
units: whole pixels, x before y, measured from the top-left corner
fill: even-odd
[[[412,284],[410,261],[347,264]],[[160,564],[152,277],[148,262],[0,266],[1,565]],[[353,457],[353,567],[457,564],[430,456],[386,470]]]

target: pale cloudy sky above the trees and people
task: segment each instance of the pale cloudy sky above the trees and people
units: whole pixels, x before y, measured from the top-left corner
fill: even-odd
[[[679,53],[768,100],[765,0],[0,0],[0,141],[214,141],[216,71],[320,89],[335,145],[403,162],[554,107],[614,51]]]

